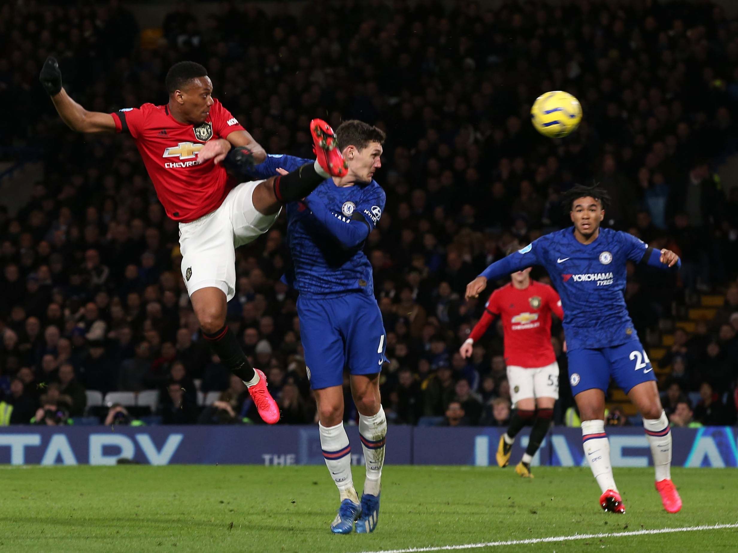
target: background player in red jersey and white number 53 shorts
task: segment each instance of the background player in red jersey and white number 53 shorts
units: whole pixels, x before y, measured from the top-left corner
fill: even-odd
[[[527,422],[533,430],[523,459],[515,472],[533,478],[531,459],[545,438],[559,399],[559,364],[551,345],[551,311],[564,319],[559,294],[551,286],[531,279],[531,268],[511,275],[511,283],[489,296],[482,318],[462,344],[461,356],[472,355],[473,344],[485,333],[494,316],[501,316],[505,332],[505,361],[514,411],[507,432],[497,446],[497,465],[506,467],[517,434]]]

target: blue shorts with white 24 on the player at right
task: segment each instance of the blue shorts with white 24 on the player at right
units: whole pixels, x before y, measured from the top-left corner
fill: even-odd
[[[638,338],[613,347],[570,349],[567,358],[573,395],[592,388],[607,392],[611,377],[626,394],[642,382],[656,380],[651,361]]]

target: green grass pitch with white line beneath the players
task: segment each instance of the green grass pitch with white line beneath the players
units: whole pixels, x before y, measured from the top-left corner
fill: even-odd
[[[384,468],[379,526],[332,535],[338,493],[325,467],[7,467],[0,552],[320,552],[525,540],[734,524],[738,470],[673,469],[684,501],[661,507],[651,469],[615,469],[625,515],[601,512],[587,468]],[[354,468],[363,483],[363,467]],[[462,551],[735,552],[738,528]],[[636,549],[637,548],[637,549]]]

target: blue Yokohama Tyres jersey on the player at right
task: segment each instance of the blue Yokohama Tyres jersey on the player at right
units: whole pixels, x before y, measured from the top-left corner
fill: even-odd
[[[574,228],[552,232],[508,256],[513,267],[543,265],[561,296],[568,349],[624,344],[637,334],[625,305],[626,264],[648,246],[625,232],[600,229],[582,244]],[[518,270],[518,269],[516,269]]]

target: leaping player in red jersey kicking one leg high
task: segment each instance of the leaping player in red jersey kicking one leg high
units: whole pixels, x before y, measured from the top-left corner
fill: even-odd
[[[226,324],[226,304],[235,295],[235,248],[269,230],[282,206],[305,198],[347,165],[331,127],[314,119],[310,130],[317,160],[262,181],[235,181],[266,153],[230,112],[215,100],[213,83],[199,63],[182,61],[167,73],[169,102],[125,108],[114,114],[87,111],[61,86],[57,60],[47,58],[41,84],[63,122],[81,133],[130,134],[136,141],[156,195],[179,221],[182,277],[204,338],[248,386],[261,418],[274,424],[279,408]],[[221,163],[222,162],[222,163]]]

